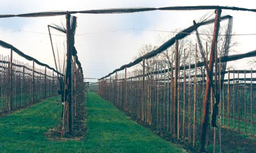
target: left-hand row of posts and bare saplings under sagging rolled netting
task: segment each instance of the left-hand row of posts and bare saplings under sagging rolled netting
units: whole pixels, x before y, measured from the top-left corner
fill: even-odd
[[[0,115],[57,95],[57,74],[61,73],[4,41],[0,45],[11,50],[8,56],[0,55]],[[14,53],[26,62],[16,60]]]

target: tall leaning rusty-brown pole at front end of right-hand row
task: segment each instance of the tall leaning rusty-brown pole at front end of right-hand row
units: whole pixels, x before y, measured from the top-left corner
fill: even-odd
[[[209,100],[210,100],[210,80],[212,80],[212,72],[213,72],[213,64],[215,57],[215,47],[216,42],[218,40],[218,33],[220,28],[220,16],[221,10],[215,10],[215,25],[214,25],[214,34],[212,36],[211,49],[210,49],[210,57],[209,57],[209,74],[206,77],[206,89],[204,96],[204,104],[203,104],[203,118],[202,118],[202,131],[201,131],[201,141],[200,141],[200,151],[205,151],[205,139],[206,139],[206,131],[208,125],[208,114],[209,114]]]

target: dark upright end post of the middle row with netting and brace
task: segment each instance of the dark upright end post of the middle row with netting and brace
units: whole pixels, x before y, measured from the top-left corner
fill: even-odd
[[[65,78],[59,78],[59,93],[63,104],[61,137],[64,137],[66,133],[71,135],[79,133],[79,128],[83,126],[81,119],[83,120],[85,117],[83,71],[74,46],[76,27],[75,16],[70,16],[70,20],[67,18],[66,25],[63,23],[61,26],[48,25],[55,66],[65,73]],[[67,40],[66,37],[59,39],[59,35],[52,35],[51,30],[66,34]]]

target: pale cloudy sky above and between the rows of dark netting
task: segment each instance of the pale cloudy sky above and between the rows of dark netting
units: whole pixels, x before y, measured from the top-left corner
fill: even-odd
[[[132,7],[168,7],[219,5],[252,8],[254,1],[14,1],[1,0],[0,14],[18,14],[56,10],[90,10],[106,8]],[[77,16],[77,31],[75,46],[82,64],[84,76],[101,78],[123,64],[130,63],[144,44],[159,46],[158,37],[169,33],[150,32],[132,29],[153,29],[174,31],[184,29],[193,24],[193,20],[214,12],[205,11],[148,11],[128,14],[75,14]],[[233,31],[236,34],[256,33],[256,13],[243,11],[222,11],[223,15],[233,16]],[[8,42],[25,54],[39,61],[54,66],[53,54],[48,33],[48,24],[65,23],[65,16],[55,17],[13,17],[0,18],[0,40]],[[127,30],[131,29],[131,30]],[[121,31],[119,31],[121,30]],[[112,32],[109,32],[112,31]],[[114,31],[114,32],[113,32]],[[90,34],[94,33],[94,34]],[[83,35],[79,35],[83,34]],[[54,41],[64,41],[65,37],[54,37]],[[246,53],[256,49],[256,35],[237,36],[238,45],[234,47],[237,53]],[[8,49],[0,47],[0,55],[9,54]],[[14,58],[19,59],[18,56]],[[20,59],[22,60],[22,59]],[[228,63],[238,69],[252,67],[248,60]],[[91,80],[90,80],[91,81]]]

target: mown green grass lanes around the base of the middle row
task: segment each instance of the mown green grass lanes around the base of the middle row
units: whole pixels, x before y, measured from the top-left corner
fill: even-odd
[[[182,152],[95,93],[87,94],[87,135],[75,141],[44,136],[60,121],[58,97],[0,118],[1,152]]]

